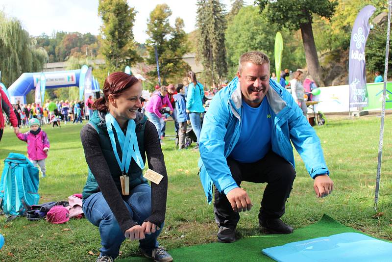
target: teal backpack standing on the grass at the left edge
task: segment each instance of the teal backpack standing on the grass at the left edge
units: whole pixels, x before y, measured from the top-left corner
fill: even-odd
[[[15,218],[25,215],[32,205],[37,205],[38,168],[22,154],[10,153],[4,160],[4,169],[0,180],[0,210]],[[7,219],[11,220],[11,219]]]

